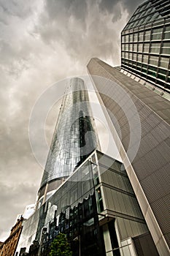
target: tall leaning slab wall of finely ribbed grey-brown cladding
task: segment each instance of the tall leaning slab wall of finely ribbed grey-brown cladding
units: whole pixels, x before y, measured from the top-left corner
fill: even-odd
[[[129,100],[132,100],[134,103],[134,108],[136,108],[139,114],[141,138],[139,140],[139,149],[136,151],[136,157],[132,159],[131,165],[142,186],[142,190],[152,209],[152,213],[161,228],[161,232],[167,244],[170,245],[170,208],[168,203],[170,202],[170,127],[169,118],[166,120],[163,119],[166,110],[168,111],[170,109],[170,102],[99,59],[90,60],[88,72],[101,96],[109,117],[111,120],[115,118],[117,124],[119,124],[117,126],[119,129],[117,129],[117,127],[115,127],[115,129],[127,155],[130,152],[128,151],[128,146],[131,135],[134,136],[134,143],[131,145],[131,150],[133,150],[137,140],[139,140],[139,138],[137,138],[139,127],[138,124],[134,124],[133,129],[129,132],[129,124],[131,122],[134,123],[135,118],[133,114],[125,118],[127,113],[131,113],[130,110],[128,110],[128,102],[125,103],[127,104],[127,109],[124,114],[123,110],[117,111],[120,106],[123,106],[121,102],[123,99],[119,98],[119,101],[117,101],[117,105],[119,105],[118,108],[115,107],[115,103],[114,106],[112,105],[113,99],[120,97],[119,90],[115,89],[116,86],[120,86],[121,89],[125,90],[125,94],[128,94]],[[98,78],[98,76],[102,76],[102,78]],[[109,88],[107,79],[112,80]],[[102,82],[98,82],[98,80],[102,80]],[[125,97],[125,94],[122,95],[122,97]],[[150,105],[147,105],[148,99],[150,99]],[[112,122],[112,124],[114,124],[114,122]],[[143,202],[141,201],[139,204],[142,205]]]

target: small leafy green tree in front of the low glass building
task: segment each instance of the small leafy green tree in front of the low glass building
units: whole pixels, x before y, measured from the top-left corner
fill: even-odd
[[[50,246],[50,256],[72,256],[66,235],[59,233]]]

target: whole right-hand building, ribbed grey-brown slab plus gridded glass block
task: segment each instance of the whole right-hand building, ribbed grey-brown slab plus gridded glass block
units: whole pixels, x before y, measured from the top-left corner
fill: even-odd
[[[121,67],[88,72],[159,255],[169,255],[169,1],[145,1],[122,31]]]

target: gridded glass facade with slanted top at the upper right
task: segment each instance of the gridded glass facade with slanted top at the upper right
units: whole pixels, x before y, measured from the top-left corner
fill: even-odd
[[[145,1],[122,31],[121,67],[170,91],[170,3]]]

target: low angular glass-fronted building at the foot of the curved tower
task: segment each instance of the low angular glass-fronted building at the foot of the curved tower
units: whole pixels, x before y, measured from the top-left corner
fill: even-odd
[[[18,255],[47,255],[60,232],[75,256],[135,255],[129,238],[148,235],[148,229],[122,163],[90,154],[26,220]]]

